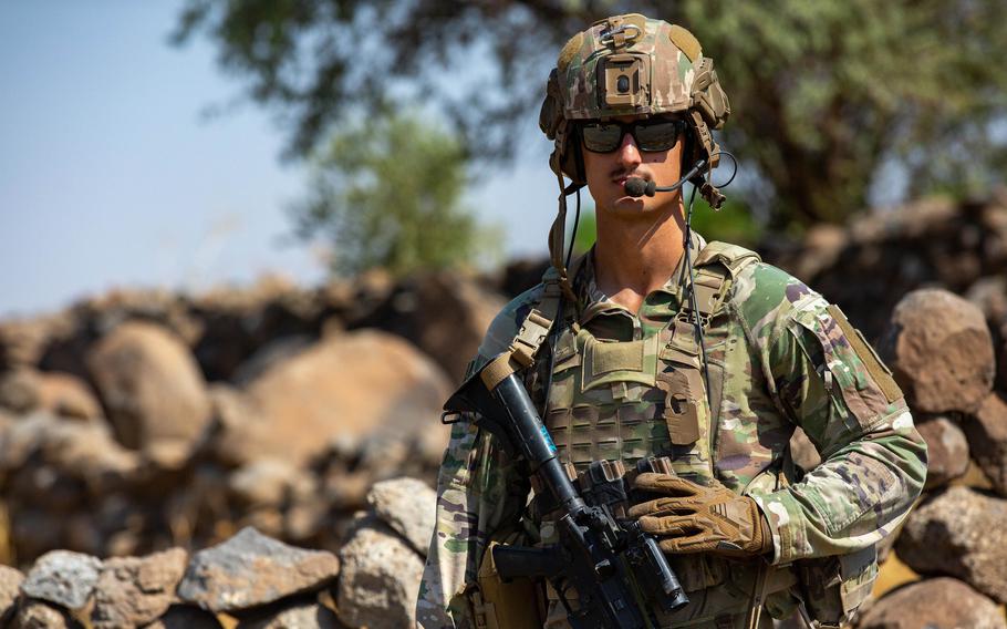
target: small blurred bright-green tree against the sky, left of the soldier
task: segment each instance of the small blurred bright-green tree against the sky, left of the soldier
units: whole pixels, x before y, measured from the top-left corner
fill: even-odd
[[[415,114],[341,128],[311,171],[311,192],[291,215],[299,237],[332,245],[335,274],[458,267],[494,248],[461,205],[461,144]]]

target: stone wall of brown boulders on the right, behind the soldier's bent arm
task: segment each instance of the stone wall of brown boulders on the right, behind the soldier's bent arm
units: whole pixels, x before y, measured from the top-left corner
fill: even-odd
[[[880,548],[883,596],[855,626],[1007,629],[1007,195],[817,228],[772,258],[875,341],[928,446],[924,495]]]

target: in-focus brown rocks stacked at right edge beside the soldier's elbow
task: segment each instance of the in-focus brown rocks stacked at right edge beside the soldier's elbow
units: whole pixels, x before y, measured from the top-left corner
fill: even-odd
[[[927,442],[924,496],[894,540],[921,580],[874,601],[857,626],[1005,629],[1007,404],[994,391],[986,317],[946,290],[915,290],[879,350]]]

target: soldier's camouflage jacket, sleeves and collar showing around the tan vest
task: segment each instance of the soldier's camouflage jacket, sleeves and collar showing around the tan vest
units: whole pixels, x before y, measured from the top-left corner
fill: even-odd
[[[655,334],[679,310],[681,274],[633,314],[598,290],[589,255],[574,282],[578,322],[599,339]],[[473,369],[506,350],[541,291],[542,285],[526,291],[496,317]],[[733,271],[721,314],[706,331],[715,368],[714,472],[751,495],[767,516],[772,564],[843,555],[884,538],[922,489],[926,447],[873,350],[835,307],[761,261]],[[817,446],[822,464],[783,488],[754,487],[760,473],[782,467],[795,426]],[[528,494],[495,437],[469,421],[454,425],[417,604],[421,626],[473,626],[466,589],[476,581],[488,539],[515,528]]]

